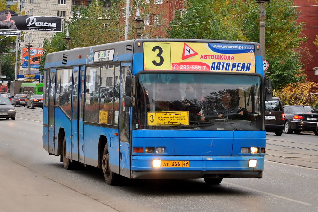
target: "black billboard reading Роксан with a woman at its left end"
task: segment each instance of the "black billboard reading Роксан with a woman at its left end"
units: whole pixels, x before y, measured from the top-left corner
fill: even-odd
[[[62,17],[20,16],[12,10],[2,10],[0,29],[61,32]]]

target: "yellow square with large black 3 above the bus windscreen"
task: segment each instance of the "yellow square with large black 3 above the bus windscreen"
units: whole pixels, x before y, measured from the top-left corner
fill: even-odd
[[[144,43],[145,70],[171,70],[171,44]]]

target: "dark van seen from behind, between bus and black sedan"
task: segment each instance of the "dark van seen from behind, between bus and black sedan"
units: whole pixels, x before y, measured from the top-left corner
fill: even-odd
[[[281,135],[284,129],[284,112],[280,98],[273,97],[272,101],[265,101],[265,129]]]

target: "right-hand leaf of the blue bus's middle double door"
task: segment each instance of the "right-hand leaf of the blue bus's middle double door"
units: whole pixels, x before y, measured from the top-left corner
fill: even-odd
[[[84,163],[84,123],[83,123],[83,112],[84,112],[84,88],[85,88],[85,66],[80,67],[80,87],[78,88],[80,92],[79,96],[79,142],[78,142],[78,148],[79,148],[79,162]]]

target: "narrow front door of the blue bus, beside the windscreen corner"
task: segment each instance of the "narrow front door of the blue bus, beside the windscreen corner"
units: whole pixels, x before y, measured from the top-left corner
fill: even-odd
[[[126,86],[126,76],[127,71],[130,69],[130,66],[123,66],[121,64],[121,85],[120,85],[120,174],[125,177],[130,178],[130,152],[132,151],[129,147],[129,117],[130,117],[130,108],[124,106],[125,101],[125,86]]]

